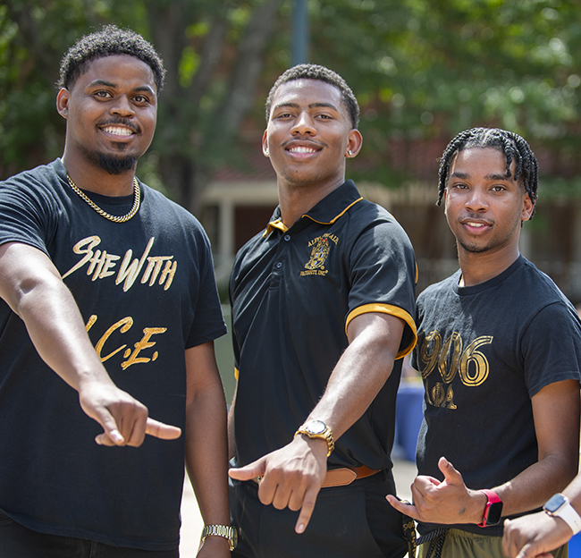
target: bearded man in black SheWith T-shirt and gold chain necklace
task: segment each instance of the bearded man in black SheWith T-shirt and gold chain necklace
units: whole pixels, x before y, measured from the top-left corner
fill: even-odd
[[[229,534],[209,243],[135,177],[163,80],[139,35],[80,38],[56,97],[63,157],[0,183],[2,556],[178,556],[184,458]]]

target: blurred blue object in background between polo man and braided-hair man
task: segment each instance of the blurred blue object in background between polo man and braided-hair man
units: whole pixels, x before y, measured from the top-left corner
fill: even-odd
[[[424,385],[400,385],[395,407],[395,440],[408,461],[416,461],[417,435],[424,419],[423,403]]]

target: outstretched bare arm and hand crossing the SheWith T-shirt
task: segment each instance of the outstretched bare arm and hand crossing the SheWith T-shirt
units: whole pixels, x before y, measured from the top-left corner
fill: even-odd
[[[21,317],[40,357],[79,392],[82,410],[104,428],[98,444],[138,446],[146,434],[181,434],[148,418],[143,404],[114,385],[72,293],[44,252],[17,242],[0,246],[0,297]]]

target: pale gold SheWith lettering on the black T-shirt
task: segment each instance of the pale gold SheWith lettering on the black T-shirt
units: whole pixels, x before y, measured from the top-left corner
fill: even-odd
[[[123,291],[127,292],[143,271],[141,283],[148,283],[148,286],[152,287],[158,280],[157,283],[163,285],[164,291],[167,291],[173,283],[178,262],[173,259],[173,256],[150,256],[155,240],[153,236],[149,239],[138,259],[133,258],[132,249],[128,249],[123,258],[116,254],[109,254],[106,250],[97,249],[101,239],[98,236],[88,236],[72,247],[75,254],[83,257],[63,275],[63,279],[87,266],[87,275],[91,276],[91,281],[115,276],[115,284],[123,283]],[[119,265],[121,259],[121,265]]]

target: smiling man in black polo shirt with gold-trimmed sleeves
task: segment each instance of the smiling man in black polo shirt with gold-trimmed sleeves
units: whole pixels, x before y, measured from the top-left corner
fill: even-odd
[[[236,556],[407,551],[384,495],[401,358],[416,342],[416,264],[400,224],[345,181],[358,111],[345,81],[311,64],[284,72],[266,101],[280,205],[230,284]]]

